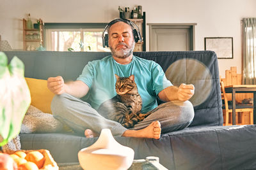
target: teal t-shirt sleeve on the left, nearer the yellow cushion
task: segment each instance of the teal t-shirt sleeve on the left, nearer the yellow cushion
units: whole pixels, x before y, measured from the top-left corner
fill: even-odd
[[[94,77],[93,68],[94,68],[93,63],[88,62],[88,64],[84,66],[82,74],[80,74],[80,76],[77,78],[77,80],[81,80],[84,83],[86,83],[86,85],[88,85],[90,89],[92,87],[93,77]]]

